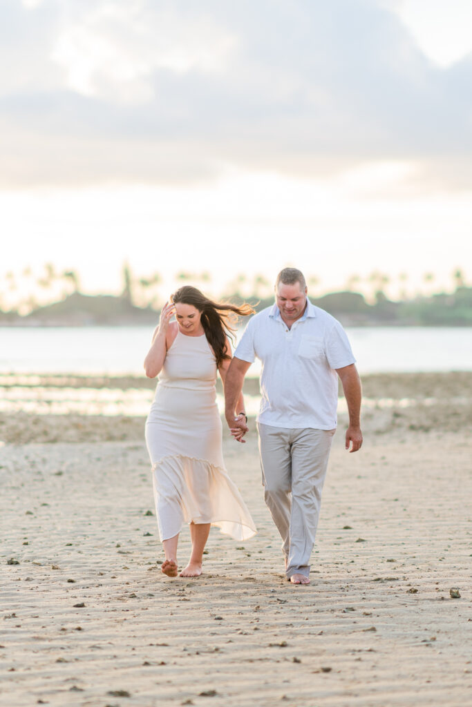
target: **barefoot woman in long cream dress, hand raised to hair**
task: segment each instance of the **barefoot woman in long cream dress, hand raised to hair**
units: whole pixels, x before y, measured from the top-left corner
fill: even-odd
[[[210,525],[237,540],[255,534],[251,515],[224,469],[215,387],[217,370],[224,382],[231,362],[229,316],[252,312],[249,305],[217,304],[195,287],[181,287],[164,305],[144,360],[149,378],[159,374],[146,420],[146,444],[166,555],[161,570],[168,577],[178,574],[178,535],[184,521],[190,523],[192,554],[181,577],[202,573]],[[246,416],[242,394],[234,413],[235,418]],[[238,430],[233,434],[244,441]]]

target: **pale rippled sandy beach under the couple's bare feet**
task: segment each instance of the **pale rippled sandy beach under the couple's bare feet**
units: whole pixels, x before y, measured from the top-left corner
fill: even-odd
[[[2,703],[466,704],[471,382],[364,378],[364,447],[345,452],[341,413],[309,587],[282,574],[253,421],[224,455],[258,534],[212,530],[202,577],[172,580],[144,419],[1,413]]]

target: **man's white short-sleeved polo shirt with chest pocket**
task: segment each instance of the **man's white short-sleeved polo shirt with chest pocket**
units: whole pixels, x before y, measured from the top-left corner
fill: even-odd
[[[343,327],[306,300],[289,329],[277,305],[249,320],[236,358],[262,362],[258,421],[274,427],[332,430],[337,424],[338,374],[355,363]]]

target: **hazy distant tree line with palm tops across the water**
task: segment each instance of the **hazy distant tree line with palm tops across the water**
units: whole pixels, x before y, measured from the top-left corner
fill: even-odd
[[[192,284],[204,291],[212,291],[212,276],[207,271],[180,271],[175,273],[173,279],[175,287]],[[466,286],[461,269],[451,274],[452,291],[449,293],[431,292],[408,297],[408,275],[400,274],[396,280],[396,284],[404,288],[396,300],[387,295],[388,287],[392,284],[391,277],[381,271],[374,271],[364,279],[352,275],[341,291],[323,295],[316,276],[308,277],[308,285],[311,301],[348,325],[372,322],[392,325],[472,325],[472,288]],[[431,290],[434,287],[434,274],[425,273],[423,281]],[[16,305],[7,306],[6,300],[11,300],[12,294],[17,290],[25,291],[25,282],[32,288],[30,293],[19,297]],[[54,320],[60,323],[69,317],[76,323],[140,323],[155,317],[159,312],[163,299],[168,296],[167,287],[164,292],[163,286],[164,279],[159,272],[138,276],[125,263],[122,267],[120,293],[117,296],[92,297],[80,291],[77,271],[57,271],[51,263],[47,263],[36,276],[30,268],[24,269],[19,277],[13,272],[4,276],[4,286],[0,289],[1,321],[17,322],[18,318],[33,317],[39,322]],[[31,293],[34,291],[42,294],[42,303]],[[231,299],[234,303],[248,301],[256,310],[260,310],[273,302],[273,284],[263,274],[248,276],[239,273],[219,296]]]

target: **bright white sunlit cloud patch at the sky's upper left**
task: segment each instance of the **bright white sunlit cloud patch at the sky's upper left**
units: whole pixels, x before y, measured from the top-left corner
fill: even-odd
[[[77,6],[76,6],[77,7]],[[112,103],[144,103],[154,96],[153,74],[170,70],[221,74],[236,37],[211,16],[178,13],[139,0],[81,4],[64,25],[51,58],[67,86]]]

